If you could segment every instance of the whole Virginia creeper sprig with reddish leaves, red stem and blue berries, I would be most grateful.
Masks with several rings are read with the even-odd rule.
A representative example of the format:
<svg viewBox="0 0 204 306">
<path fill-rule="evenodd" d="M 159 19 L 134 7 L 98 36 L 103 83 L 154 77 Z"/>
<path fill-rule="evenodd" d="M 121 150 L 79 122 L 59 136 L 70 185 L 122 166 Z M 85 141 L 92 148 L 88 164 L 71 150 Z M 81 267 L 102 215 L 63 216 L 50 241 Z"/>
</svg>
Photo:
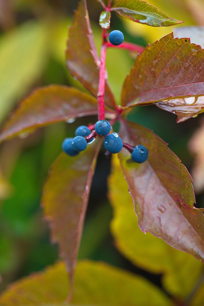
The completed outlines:
<svg viewBox="0 0 204 306">
<path fill-rule="evenodd" d="M 113 45 L 115 37 L 111 43 L 108 29 L 114 12 L 153 27 L 172 26 L 182 21 L 168 17 L 141 0 L 118 0 L 114 4 L 109 0 L 107 6 L 102 0 L 98 2 L 103 9 L 99 18 L 102 27 L 100 57 L 86 0 L 79 3 L 66 50 L 67 68 L 91 95 L 60 85 L 38 88 L 21 102 L 0 134 L 0 141 L 4 141 L 55 122 L 98 114 L 96 128 L 96 123 L 92 122 L 80 128 L 88 131 L 87 134 L 76 132 L 73 139 L 63 143 L 68 154 L 62 152 L 54 162 L 43 189 L 44 215 L 50 223 L 52 241 L 59 244 L 71 284 L 91 182 L 103 142 L 106 156 L 118 153 L 141 231 L 150 232 L 173 248 L 204 262 L 203 209 L 194 207 L 190 174 L 163 140 L 126 118 L 130 107 L 151 104 L 175 113 L 178 122 L 201 113 L 204 50 L 189 38 L 174 38 L 172 33 L 146 48 L 125 42 L 125 37 L 124 42 Z M 120 105 L 107 81 L 106 53 L 112 47 L 137 54 L 124 81 Z M 113 130 L 117 121 L 119 135 Z M 101 122 L 105 122 L 105 132 L 98 128 Z M 111 130 L 106 130 L 107 126 Z M 71 295 L 72 289 L 69 299 Z"/>
</svg>

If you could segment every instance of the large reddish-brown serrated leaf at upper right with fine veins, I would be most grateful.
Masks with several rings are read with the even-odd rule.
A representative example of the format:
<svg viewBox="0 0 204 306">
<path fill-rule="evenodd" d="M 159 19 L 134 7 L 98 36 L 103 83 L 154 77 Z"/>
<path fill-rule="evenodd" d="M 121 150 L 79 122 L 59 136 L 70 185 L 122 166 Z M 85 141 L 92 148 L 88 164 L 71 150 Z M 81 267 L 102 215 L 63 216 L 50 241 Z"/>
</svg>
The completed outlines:
<svg viewBox="0 0 204 306">
<path fill-rule="evenodd" d="M 122 105 L 204 95 L 203 67 L 200 46 L 166 35 L 137 56 L 124 82 Z"/>
</svg>

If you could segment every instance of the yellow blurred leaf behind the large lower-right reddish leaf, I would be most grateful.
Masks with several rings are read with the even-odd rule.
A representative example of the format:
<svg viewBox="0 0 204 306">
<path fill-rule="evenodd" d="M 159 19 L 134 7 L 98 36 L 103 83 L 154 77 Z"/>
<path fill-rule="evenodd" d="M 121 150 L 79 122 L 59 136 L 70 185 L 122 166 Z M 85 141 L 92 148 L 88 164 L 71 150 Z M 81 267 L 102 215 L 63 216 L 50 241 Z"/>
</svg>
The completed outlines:
<svg viewBox="0 0 204 306">
<path fill-rule="evenodd" d="M 139 229 L 117 156 L 113 156 L 108 183 L 114 215 L 111 232 L 118 250 L 139 268 L 162 274 L 163 286 L 174 297 L 186 297 L 200 277 L 203 264 Z"/>
</svg>

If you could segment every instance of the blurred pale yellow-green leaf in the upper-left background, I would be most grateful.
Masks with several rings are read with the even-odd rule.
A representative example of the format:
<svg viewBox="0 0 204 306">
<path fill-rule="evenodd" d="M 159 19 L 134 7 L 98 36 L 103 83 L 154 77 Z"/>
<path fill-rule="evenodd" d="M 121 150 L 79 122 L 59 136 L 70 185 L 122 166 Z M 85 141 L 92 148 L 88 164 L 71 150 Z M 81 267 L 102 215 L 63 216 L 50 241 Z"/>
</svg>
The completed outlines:
<svg viewBox="0 0 204 306">
<path fill-rule="evenodd" d="M 41 75 L 46 63 L 43 23 L 27 22 L 0 38 L 0 122 Z"/>
</svg>

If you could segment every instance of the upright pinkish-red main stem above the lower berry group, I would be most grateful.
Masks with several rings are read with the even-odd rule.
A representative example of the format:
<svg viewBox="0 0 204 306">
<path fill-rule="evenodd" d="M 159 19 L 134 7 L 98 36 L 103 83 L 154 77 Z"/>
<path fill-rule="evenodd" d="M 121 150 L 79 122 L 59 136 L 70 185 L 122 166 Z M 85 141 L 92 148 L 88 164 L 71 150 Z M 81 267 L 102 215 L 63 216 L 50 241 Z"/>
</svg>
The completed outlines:
<svg viewBox="0 0 204 306">
<path fill-rule="evenodd" d="M 101 47 L 101 64 L 98 84 L 98 120 L 105 119 L 104 95 L 106 84 L 106 30 L 103 30 L 103 45 Z"/>
</svg>

